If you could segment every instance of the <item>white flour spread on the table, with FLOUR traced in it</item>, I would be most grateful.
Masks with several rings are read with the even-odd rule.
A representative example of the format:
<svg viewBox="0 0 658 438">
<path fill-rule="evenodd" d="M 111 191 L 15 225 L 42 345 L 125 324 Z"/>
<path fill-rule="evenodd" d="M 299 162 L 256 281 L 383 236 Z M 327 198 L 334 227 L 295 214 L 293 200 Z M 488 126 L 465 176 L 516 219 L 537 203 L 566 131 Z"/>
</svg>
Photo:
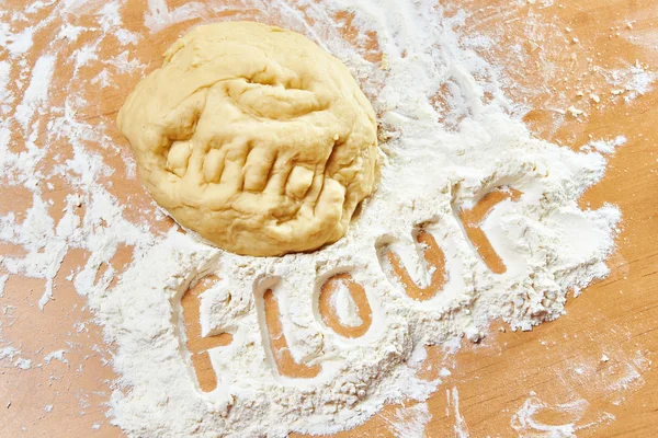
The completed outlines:
<svg viewBox="0 0 658 438">
<path fill-rule="evenodd" d="M 71 24 L 81 8 L 76 3 L 58 3 L 49 22 L 57 16 Z M 157 32 L 193 16 L 211 18 L 229 9 L 222 3 L 190 3 L 170 11 L 164 1 L 152 0 L 145 25 Z M 0 72 L 20 69 L 10 74 L 23 81 L 18 106 L 1 110 L 0 170 L 9 185 L 33 193 L 25 217 L 0 217 L 0 241 L 26 252 L 1 257 L 0 267 L 46 279 L 38 301 L 43 308 L 56 295 L 53 279 L 66 253 L 87 250 L 86 265 L 71 279 L 104 325 L 106 341 L 116 346 L 113 366 L 121 388 L 112 396 L 111 415 L 129 436 L 283 437 L 291 430 L 330 434 L 355 426 L 386 402 L 424 401 L 438 388 L 439 380 L 416 377 L 426 345 L 455 345 L 464 336 L 477 342 L 496 319 L 514 330 L 531 330 L 564 313 L 568 290 L 579 291 L 605 276 L 604 260 L 614 245 L 620 212 L 611 206 L 582 210 L 577 204 L 603 176 L 605 159 L 597 151 L 575 153 L 531 137 L 510 115 L 513 105 L 502 95 L 497 68 L 461 44 L 463 13 L 444 16 L 429 0 L 243 3 L 241 9 L 262 11 L 272 18 L 271 24 L 303 32 L 342 59 L 371 97 L 387 138 L 376 194 L 344 239 L 313 254 L 237 256 L 175 229 L 161 235 L 148 223 L 126 218 L 129 204 L 122 205 L 111 194 L 107 178 L 129 174 L 134 163 L 123 158 L 125 170 L 113 169 L 90 150 L 89 145 L 100 145 L 107 154 L 125 154 L 106 134 L 114 131 L 112 125 L 93 125 L 84 116 L 87 101 L 94 96 L 76 85 L 90 65 L 106 66 L 91 81 L 110 88 L 115 87 L 115 76 L 145 67 L 131 49 L 148 42 L 122 27 L 120 3 L 84 5 L 84 13 L 97 15 L 98 26 L 61 27 L 67 31 L 48 53 L 39 54 L 32 69 L 18 61 L 9 68 L 0 64 Z M 296 12 L 299 8 L 306 16 Z M 352 25 L 359 31 L 352 43 L 338 31 L 344 23 L 336 13 L 344 10 L 353 14 Z M 12 33 L 4 24 L 0 31 L 0 43 L 12 57 L 30 50 L 34 31 Z M 364 48 L 368 32 L 376 33 L 385 55 L 382 66 L 367 60 L 373 54 Z M 58 56 L 57 50 L 86 33 L 93 35 L 80 43 L 87 51 L 76 46 L 76 56 Z M 98 48 L 109 37 L 118 45 L 113 54 Z M 72 72 L 66 81 L 73 85 L 55 106 L 47 97 L 58 87 L 48 89 L 58 68 Z M 0 78 L 0 96 L 9 93 L 4 79 Z M 450 92 L 439 104 L 433 97 L 442 87 Z M 45 138 L 66 138 L 71 157 L 44 170 L 39 163 L 46 153 L 54 159 L 57 153 L 48 150 L 48 141 L 36 141 L 45 129 L 37 115 L 46 113 Z M 18 128 L 27 139 L 21 152 L 11 145 L 10 132 Z M 71 187 L 57 221 L 44 186 L 50 177 Z M 523 195 L 498 204 L 481 224 L 507 266 L 497 275 L 474 250 L 457 214 L 499 186 Z M 379 256 L 385 247 L 406 247 L 405 266 L 419 286 L 426 285 L 430 275 L 412 239 L 421 226 L 445 254 L 447 280 L 434 297 L 418 302 L 398 286 Z M 133 262 L 114 286 L 109 262 L 121 245 L 134 246 Z M 97 278 L 101 266 L 109 267 Z M 338 273 L 351 274 L 368 299 L 372 324 L 359 338 L 339 336 L 321 323 L 317 311 L 318 289 Z M 202 297 L 202 331 L 229 332 L 232 343 L 208 351 L 217 389 L 203 393 L 185 348 L 180 297 L 209 274 L 222 281 Z M 294 379 L 277 371 L 264 322 L 262 296 L 268 288 L 279 303 L 293 358 L 321 367 L 317 377 Z M 341 297 L 334 302 L 339 320 L 360 325 L 353 302 L 344 291 Z M 4 355 L 13 360 L 18 353 Z M 64 355 L 49 359 L 64 360 Z M 455 433 L 467 436 L 456 389 L 452 397 L 458 419 Z M 429 414 L 418 410 L 424 426 Z"/>
</svg>

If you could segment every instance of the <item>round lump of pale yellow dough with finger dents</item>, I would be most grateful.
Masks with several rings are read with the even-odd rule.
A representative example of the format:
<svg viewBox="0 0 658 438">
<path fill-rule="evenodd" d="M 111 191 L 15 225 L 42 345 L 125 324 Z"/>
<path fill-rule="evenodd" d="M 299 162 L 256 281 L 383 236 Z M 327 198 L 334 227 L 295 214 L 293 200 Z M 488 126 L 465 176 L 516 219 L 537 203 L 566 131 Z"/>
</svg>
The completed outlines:
<svg viewBox="0 0 658 438">
<path fill-rule="evenodd" d="M 194 28 L 137 84 L 117 124 L 154 199 L 238 254 L 334 242 L 375 186 L 370 102 L 341 61 L 279 27 Z"/>
</svg>

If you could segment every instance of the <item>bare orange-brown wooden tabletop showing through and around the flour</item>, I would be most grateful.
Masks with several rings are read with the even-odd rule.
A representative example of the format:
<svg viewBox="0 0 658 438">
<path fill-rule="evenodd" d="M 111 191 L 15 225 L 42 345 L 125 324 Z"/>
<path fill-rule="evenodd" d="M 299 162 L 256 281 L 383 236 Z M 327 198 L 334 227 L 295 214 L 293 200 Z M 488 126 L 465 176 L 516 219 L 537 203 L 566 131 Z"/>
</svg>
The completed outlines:
<svg viewBox="0 0 658 438">
<path fill-rule="evenodd" d="M 510 83 L 514 87 L 509 87 L 507 93 L 512 100 L 532 108 L 525 120 L 534 135 L 574 149 L 592 138 L 626 136 L 627 143 L 610 157 L 604 180 L 589 189 L 580 203 L 588 208 L 599 208 L 605 203 L 621 208 L 623 223 L 619 249 L 609 261 L 610 276 L 577 298 L 569 296 L 567 314 L 559 320 L 525 333 L 499 331 L 499 325 L 495 324 L 484 342 L 477 345 L 464 343 L 456 354 L 430 348 L 421 376 L 435 378 L 442 368 L 449 369 L 451 376 L 443 379 L 443 384 L 428 401 L 432 417 L 426 427 L 426 436 L 449 437 L 455 436 L 456 430 L 468 430 L 472 437 L 543 437 L 549 435 L 542 435 L 542 428 L 571 423 L 578 437 L 658 436 L 658 374 L 654 366 L 658 350 L 658 90 L 626 102 L 624 97 L 631 92 L 613 94 L 619 87 L 610 84 L 602 73 L 628 70 L 636 61 L 647 70 L 658 68 L 658 7 L 655 0 L 508 3 L 464 1 L 458 8 L 450 3 L 446 13 L 450 15 L 460 8 L 469 11 L 472 15 L 460 33 L 498 38 L 499 43 L 483 50 L 481 55 L 511 78 Z M 180 4 L 182 2 L 170 0 L 170 11 Z M 22 1 L 13 0 L 9 5 L 24 7 Z M 141 2 L 129 1 L 122 10 L 122 19 L 126 28 L 145 36 L 138 46 L 131 48 L 134 53 L 129 57 L 139 59 L 145 71 L 150 71 L 160 64 L 160 54 L 166 47 L 202 20 L 186 20 L 152 34 L 144 26 L 145 8 Z M 79 24 L 92 25 L 92 12 L 81 13 L 77 19 Z M 47 14 L 48 9 L 45 9 L 43 15 Z M 254 20 L 277 22 L 276 16 L 261 11 L 252 10 L 247 14 Z M 205 20 L 219 19 L 222 16 Z M 52 44 L 57 30 L 56 20 L 38 30 L 34 35 L 33 54 L 26 56 L 27 62 L 35 62 L 38 54 Z M 348 36 L 349 33 L 348 28 Z M 83 43 L 84 34 L 79 39 L 79 44 Z M 89 79 L 95 77 L 102 66 L 91 67 L 80 73 L 86 81 L 70 84 L 72 65 L 68 59 L 73 48 L 61 47 L 50 100 L 61 105 L 72 87 L 87 91 L 88 113 L 78 116 L 90 123 L 106 124 L 112 141 L 118 146 L 116 149 L 90 146 L 115 169 L 115 174 L 106 178 L 110 192 L 123 204 L 135 206 L 126 211 L 128 216 L 133 215 L 135 219 L 148 215 L 155 217 L 149 197 L 138 181 L 124 176 L 126 164 L 121 155 L 129 153 L 129 149 L 113 126 L 116 111 L 141 71 L 117 73 L 116 87 L 98 91 Z M 99 43 L 99 50 L 110 58 L 125 49 L 107 38 Z M 2 56 L 0 51 L 0 59 Z M 377 59 L 372 54 L 368 56 Z M 579 96 L 581 91 L 583 95 Z M 594 103 L 590 93 L 595 93 L 601 102 Z M 571 105 L 585 110 L 586 114 L 570 115 L 566 110 Z M 48 113 L 41 116 L 48 117 Z M 25 147 L 24 134 L 20 129 L 12 132 L 14 150 Z M 44 168 L 53 165 L 55 150 L 60 154 L 59 160 L 72 154 L 66 139 L 60 139 L 52 145 L 53 152 L 48 152 Z M 53 211 L 57 211 L 69 188 L 64 178 L 52 180 L 55 186 Z M 20 217 L 23 207 L 30 205 L 31 194 L 21 187 L 1 187 L 0 194 L 2 215 L 16 211 Z M 151 224 L 157 232 L 167 229 L 170 222 L 152 221 Z M 421 232 L 419 239 L 429 238 Z M 428 243 L 428 253 L 431 253 L 432 245 L 430 241 Z M 0 242 L 0 251 L 14 253 L 21 249 Z M 123 249 L 112 260 L 112 266 L 121 273 L 131 254 L 129 247 Z M 55 300 L 43 312 L 35 304 L 44 287 L 43 280 L 11 276 L 7 283 L 4 296 L 0 297 L 3 309 L 0 342 L 20 344 L 27 357 L 32 355 L 30 358 L 35 365 L 42 362 L 43 366 L 23 371 L 0 361 L 2 437 L 121 436 L 121 431 L 104 418 L 103 403 L 111 393 L 110 382 L 116 378 L 109 366 L 103 366 L 111 358 L 111 347 L 102 344 L 101 331 L 91 322 L 84 298 L 78 296 L 65 279 L 71 269 L 86 262 L 86 257 L 88 254 L 83 251 L 71 251 L 66 256 L 55 280 Z M 392 263 L 395 263 L 394 258 Z M 440 260 L 433 260 L 441 265 Z M 496 263 L 491 256 L 491 266 Z M 404 277 L 401 269 L 398 266 Z M 103 267 L 100 270 L 102 274 Z M 434 280 L 440 284 L 441 276 L 432 278 L 433 284 Z M 198 333 L 194 323 L 195 293 L 198 292 L 183 298 L 188 333 L 192 339 L 194 333 Z M 427 292 L 417 290 L 415 293 L 422 298 Z M 271 301 L 269 309 L 270 314 L 275 315 L 275 303 Z M 367 323 L 367 312 L 360 310 Z M 276 335 L 280 327 L 275 319 L 269 321 L 270 333 Z M 325 323 L 333 324 L 330 319 Z M 230 339 L 191 341 L 189 344 L 198 356 L 195 366 L 202 388 L 214 384 L 213 371 L 203 354 L 214 342 Z M 67 349 L 67 362 L 43 362 L 39 358 L 44 345 L 47 350 Z M 273 347 L 277 348 L 276 345 Z M 293 374 L 314 372 L 303 367 L 295 370 L 291 360 L 283 357 L 277 366 L 280 369 L 292 367 Z M 50 404 L 53 411 L 46 413 L 44 406 Z M 524 406 L 538 406 L 533 418 L 545 426 L 523 429 L 518 413 Z M 396 418 L 405 415 L 400 410 L 401 405 L 388 406 L 366 424 L 339 436 L 394 436 Z M 99 425 L 98 431 L 92 430 L 92 425 Z"/>
</svg>

